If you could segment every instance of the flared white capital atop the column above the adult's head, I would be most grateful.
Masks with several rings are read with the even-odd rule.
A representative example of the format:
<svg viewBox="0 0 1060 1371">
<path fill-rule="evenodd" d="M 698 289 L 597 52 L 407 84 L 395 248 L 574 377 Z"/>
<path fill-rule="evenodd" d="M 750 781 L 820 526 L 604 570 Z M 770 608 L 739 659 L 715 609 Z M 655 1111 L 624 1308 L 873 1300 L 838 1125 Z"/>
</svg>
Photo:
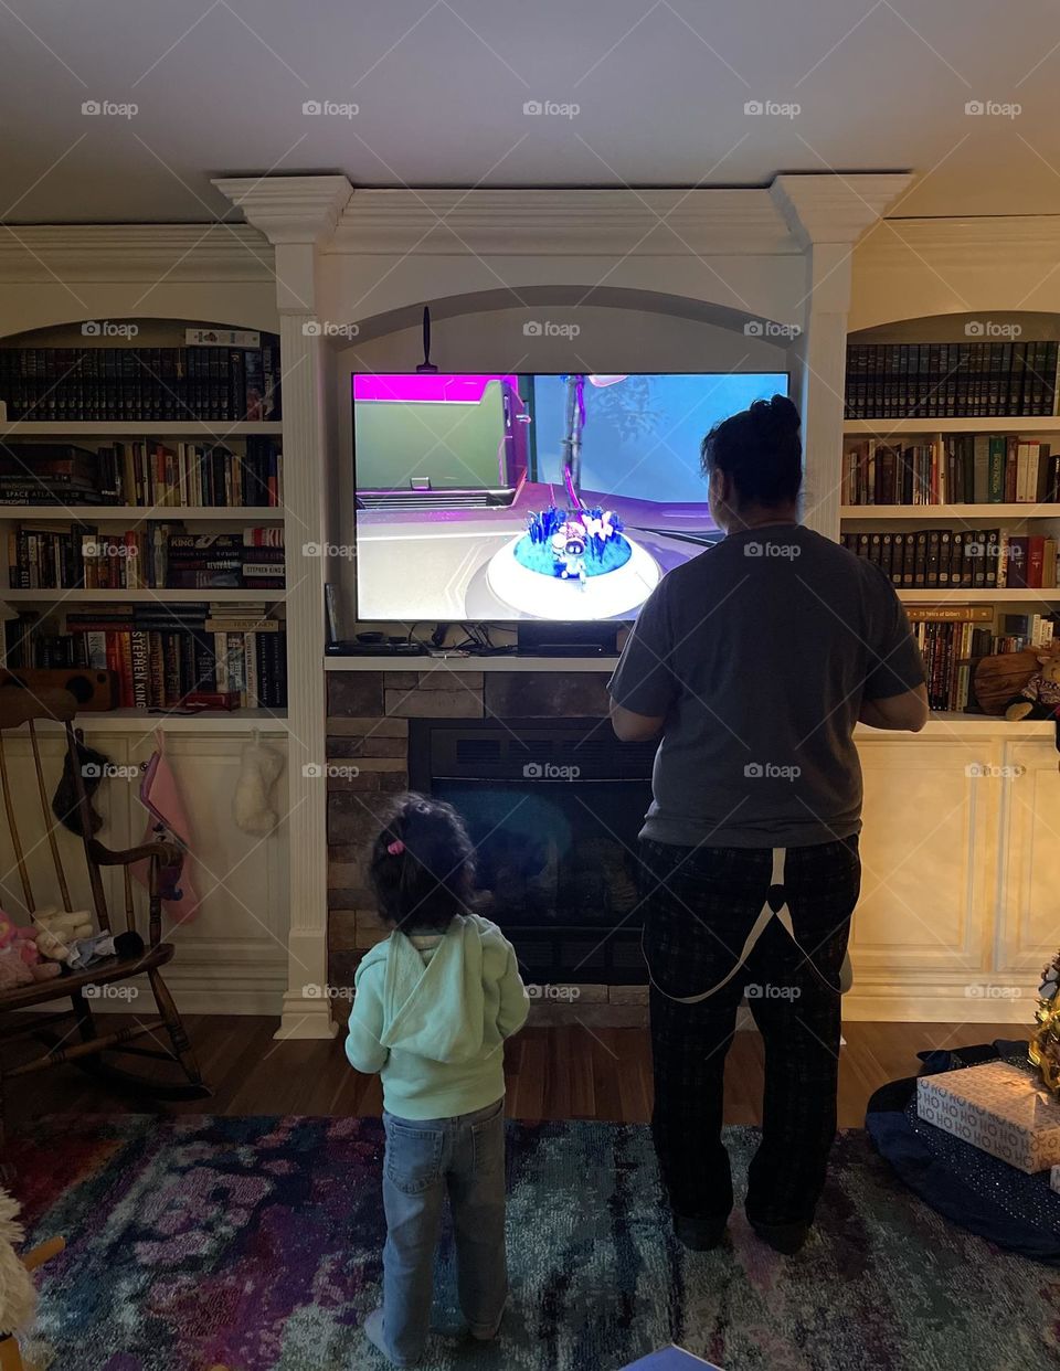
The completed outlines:
<svg viewBox="0 0 1060 1371">
<path fill-rule="evenodd" d="M 857 243 L 865 229 L 884 215 L 912 180 L 908 171 L 850 175 L 784 173 L 773 180 L 769 195 L 801 247 L 850 244 Z"/>
</svg>

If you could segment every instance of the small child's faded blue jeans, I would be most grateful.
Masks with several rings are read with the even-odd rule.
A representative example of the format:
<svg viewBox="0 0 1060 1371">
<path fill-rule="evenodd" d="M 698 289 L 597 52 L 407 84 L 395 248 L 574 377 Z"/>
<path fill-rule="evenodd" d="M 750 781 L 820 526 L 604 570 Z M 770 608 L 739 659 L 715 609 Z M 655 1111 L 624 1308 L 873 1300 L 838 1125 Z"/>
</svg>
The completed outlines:
<svg viewBox="0 0 1060 1371">
<path fill-rule="evenodd" d="M 505 1257 L 505 1101 L 455 1119 L 384 1113 L 383 1328 L 398 1366 L 422 1355 L 431 1327 L 435 1249 L 448 1191 L 461 1309 L 470 1331 L 492 1337 L 507 1300 Z"/>
</svg>

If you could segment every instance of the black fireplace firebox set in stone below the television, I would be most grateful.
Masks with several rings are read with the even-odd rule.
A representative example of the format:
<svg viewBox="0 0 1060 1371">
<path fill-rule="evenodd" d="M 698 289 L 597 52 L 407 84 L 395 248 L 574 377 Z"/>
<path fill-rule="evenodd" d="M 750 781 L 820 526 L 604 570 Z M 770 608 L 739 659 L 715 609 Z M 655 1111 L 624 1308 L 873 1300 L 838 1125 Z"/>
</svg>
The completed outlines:
<svg viewBox="0 0 1060 1371">
<path fill-rule="evenodd" d="M 476 846 L 481 913 L 539 984 L 643 984 L 636 835 L 654 743 L 606 720 L 414 718 L 409 783 Z"/>
</svg>

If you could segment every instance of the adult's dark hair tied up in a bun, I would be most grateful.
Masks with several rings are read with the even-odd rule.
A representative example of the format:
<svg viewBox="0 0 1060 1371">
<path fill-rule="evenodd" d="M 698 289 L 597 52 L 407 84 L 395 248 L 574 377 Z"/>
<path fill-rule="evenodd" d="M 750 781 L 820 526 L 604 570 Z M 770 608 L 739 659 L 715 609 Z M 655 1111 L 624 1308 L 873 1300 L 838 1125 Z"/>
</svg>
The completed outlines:
<svg viewBox="0 0 1060 1371">
<path fill-rule="evenodd" d="M 740 505 L 794 505 L 802 485 L 798 410 L 786 395 L 714 424 L 699 446 L 703 474 L 732 477 Z"/>
</svg>

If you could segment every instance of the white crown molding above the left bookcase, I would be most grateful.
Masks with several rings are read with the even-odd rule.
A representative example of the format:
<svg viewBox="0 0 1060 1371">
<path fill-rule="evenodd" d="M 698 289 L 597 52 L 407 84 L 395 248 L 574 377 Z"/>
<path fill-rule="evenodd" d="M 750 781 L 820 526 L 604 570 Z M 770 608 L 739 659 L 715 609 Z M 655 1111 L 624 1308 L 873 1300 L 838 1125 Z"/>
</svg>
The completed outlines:
<svg viewBox="0 0 1060 1371">
<path fill-rule="evenodd" d="M 273 250 L 244 223 L 0 225 L 0 281 L 269 281 Z"/>
</svg>

